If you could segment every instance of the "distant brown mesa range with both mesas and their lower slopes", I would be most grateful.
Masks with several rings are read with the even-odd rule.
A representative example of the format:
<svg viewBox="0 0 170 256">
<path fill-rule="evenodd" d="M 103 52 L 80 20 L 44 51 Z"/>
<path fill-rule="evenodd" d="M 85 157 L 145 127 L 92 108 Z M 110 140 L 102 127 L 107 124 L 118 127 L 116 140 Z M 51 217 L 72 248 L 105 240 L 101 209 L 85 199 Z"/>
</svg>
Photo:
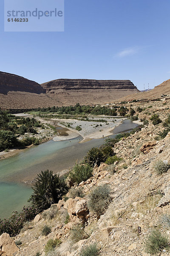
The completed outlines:
<svg viewBox="0 0 170 256">
<path fill-rule="evenodd" d="M 130 80 L 58 79 L 40 85 L 0 72 L 0 108 L 4 109 L 105 104 L 130 93 L 139 93 Z"/>
</svg>

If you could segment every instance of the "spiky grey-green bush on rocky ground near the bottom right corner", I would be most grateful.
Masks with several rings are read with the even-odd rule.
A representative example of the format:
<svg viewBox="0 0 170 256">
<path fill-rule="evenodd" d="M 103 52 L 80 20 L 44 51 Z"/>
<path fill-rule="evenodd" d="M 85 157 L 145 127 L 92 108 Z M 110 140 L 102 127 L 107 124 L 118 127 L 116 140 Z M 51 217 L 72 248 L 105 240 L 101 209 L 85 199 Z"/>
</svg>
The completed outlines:
<svg viewBox="0 0 170 256">
<path fill-rule="evenodd" d="M 169 249 L 169 241 L 167 236 L 161 234 L 159 230 L 152 230 L 144 242 L 144 248 L 151 255 L 161 253 L 163 249 Z"/>
</svg>

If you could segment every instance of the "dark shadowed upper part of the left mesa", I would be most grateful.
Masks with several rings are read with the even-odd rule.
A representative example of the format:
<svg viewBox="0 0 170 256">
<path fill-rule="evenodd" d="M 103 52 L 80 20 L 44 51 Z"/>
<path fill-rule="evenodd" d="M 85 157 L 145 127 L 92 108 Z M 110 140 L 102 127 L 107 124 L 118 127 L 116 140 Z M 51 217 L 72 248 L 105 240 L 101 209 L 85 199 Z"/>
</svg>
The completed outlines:
<svg viewBox="0 0 170 256">
<path fill-rule="evenodd" d="M 0 71 L 0 93 L 7 94 L 8 91 L 45 93 L 45 89 L 35 81 Z"/>
</svg>

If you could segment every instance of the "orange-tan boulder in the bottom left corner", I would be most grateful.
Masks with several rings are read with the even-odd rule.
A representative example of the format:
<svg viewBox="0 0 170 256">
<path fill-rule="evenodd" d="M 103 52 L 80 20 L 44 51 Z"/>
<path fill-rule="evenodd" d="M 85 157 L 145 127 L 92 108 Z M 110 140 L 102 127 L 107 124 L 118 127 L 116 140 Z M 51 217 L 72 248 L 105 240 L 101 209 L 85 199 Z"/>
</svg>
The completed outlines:
<svg viewBox="0 0 170 256">
<path fill-rule="evenodd" d="M 13 256 L 19 248 L 16 246 L 14 240 L 7 233 L 3 233 L 0 236 L 0 255 Z"/>
</svg>

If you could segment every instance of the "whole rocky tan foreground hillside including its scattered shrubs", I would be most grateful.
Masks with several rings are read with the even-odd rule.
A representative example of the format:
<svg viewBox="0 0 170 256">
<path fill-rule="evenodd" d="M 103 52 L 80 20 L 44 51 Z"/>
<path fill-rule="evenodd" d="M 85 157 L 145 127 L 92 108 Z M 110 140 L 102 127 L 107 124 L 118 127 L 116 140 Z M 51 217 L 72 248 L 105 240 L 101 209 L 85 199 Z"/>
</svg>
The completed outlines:
<svg viewBox="0 0 170 256">
<path fill-rule="evenodd" d="M 95 165 L 79 185 L 72 186 L 68 177 L 72 187 L 58 204 L 26 222 L 17 236 L 0 236 L 0 254 L 170 255 L 170 131 L 164 134 L 170 100 L 165 103 L 144 102 L 139 109 L 133 102 L 144 126 L 113 143 L 114 164 Z M 156 125 L 150 120 L 154 113 L 161 119 Z"/>
</svg>

